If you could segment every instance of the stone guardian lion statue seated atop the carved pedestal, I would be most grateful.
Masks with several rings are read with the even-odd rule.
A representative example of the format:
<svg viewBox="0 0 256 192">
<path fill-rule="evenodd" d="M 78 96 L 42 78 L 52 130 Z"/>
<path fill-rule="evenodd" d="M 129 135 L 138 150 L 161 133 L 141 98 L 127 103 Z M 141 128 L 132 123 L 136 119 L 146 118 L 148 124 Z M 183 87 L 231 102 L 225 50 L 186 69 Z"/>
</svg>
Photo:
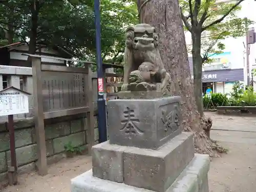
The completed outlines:
<svg viewBox="0 0 256 192">
<path fill-rule="evenodd" d="M 170 75 L 165 70 L 154 27 L 138 24 L 126 30 L 123 91 L 170 91 Z M 160 84 L 160 87 L 157 86 Z"/>
</svg>

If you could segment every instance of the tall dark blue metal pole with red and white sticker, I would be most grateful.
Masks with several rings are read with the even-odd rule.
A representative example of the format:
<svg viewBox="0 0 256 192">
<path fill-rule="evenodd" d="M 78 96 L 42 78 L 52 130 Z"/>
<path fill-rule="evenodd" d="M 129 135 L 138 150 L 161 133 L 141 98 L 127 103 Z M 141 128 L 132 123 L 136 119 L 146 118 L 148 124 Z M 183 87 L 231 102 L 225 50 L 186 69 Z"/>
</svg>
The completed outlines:
<svg viewBox="0 0 256 192">
<path fill-rule="evenodd" d="M 101 41 L 100 41 L 100 9 L 99 0 L 94 0 L 95 28 L 96 28 L 96 56 L 97 56 L 97 75 L 98 75 L 98 127 L 99 143 L 107 140 L 106 136 L 106 108 L 104 99 L 104 73 L 101 58 Z"/>
</svg>

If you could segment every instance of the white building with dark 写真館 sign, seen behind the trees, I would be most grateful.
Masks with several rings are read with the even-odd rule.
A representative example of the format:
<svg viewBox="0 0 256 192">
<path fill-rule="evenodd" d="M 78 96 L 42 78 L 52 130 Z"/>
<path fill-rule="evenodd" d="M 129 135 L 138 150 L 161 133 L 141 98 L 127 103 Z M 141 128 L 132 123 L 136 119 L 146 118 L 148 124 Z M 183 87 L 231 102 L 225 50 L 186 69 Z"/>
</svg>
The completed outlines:
<svg viewBox="0 0 256 192">
<path fill-rule="evenodd" d="M 223 2 L 223 0 L 222 0 Z M 230 2 L 230 1 L 225 1 Z M 237 12 L 237 16 L 240 18 L 247 17 L 250 20 L 256 22 L 256 1 L 254 0 L 245 0 L 240 4 L 242 6 L 241 10 Z M 249 28 L 256 25 L 251 25 Z M 209 32 L 204 31 L 202 33 L 202 38 L 209 35 Z M 190 32 L 185 32 L 186 44 L 188 47 L 191 47 L 192 39 Z M 203 91 L 207 87 L 211 87 L 212 91 L 215 93 L 230 93 L 232 84 L 234 81 L 243 81 L 247 83 L 247 69 L 246 69 L 246 54 L 245 54 L 245 45 L 246 37 L 228 37 L 222 40 L 222 43 L 225 44 L 225 49 L 223 54 L 215 54 L 215 62 L 210 65 L 203 66 Z M 189 49 L 188 49 L 189 50 Z M 191 53 L 188 53 L 188 56 L 191 57 Z M 190 60 L 190 71 L 193 73 L 193 64 Z M 250 55 L 249 55 L 249 74 L 251 75 L 251 70 L 253 65 L 256 68 L 256 44 L 250 45 Z M 241 74 L 243 73 L 243 74 Z M 226 76 L 228 75 L 228 76 Z M 207 77 L 216 77 L 215 79 Z M 243 76 L 243 77 L 242 77 Z M 254 77 L 256 80 L 256 77 Z"/>
</svg>

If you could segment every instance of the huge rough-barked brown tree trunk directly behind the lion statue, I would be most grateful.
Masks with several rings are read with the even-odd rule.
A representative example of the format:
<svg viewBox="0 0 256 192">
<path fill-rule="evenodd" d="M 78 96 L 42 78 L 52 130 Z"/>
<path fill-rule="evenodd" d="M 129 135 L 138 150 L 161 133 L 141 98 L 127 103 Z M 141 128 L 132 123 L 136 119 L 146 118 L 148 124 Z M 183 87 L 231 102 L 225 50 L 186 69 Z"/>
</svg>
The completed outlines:
<svg viewBox="0 0 256 192">
<path fill-rule="evenodd" d="M 182 97 L 183 130 L 195 133 L 197 153 L 215 155 L 196 108 L 178 1 L 138 0 L 137 6 L 140 22 L 154 26 L 159 34 L 159 51 L 172 78 L 172 93 Z"/>
</svg>

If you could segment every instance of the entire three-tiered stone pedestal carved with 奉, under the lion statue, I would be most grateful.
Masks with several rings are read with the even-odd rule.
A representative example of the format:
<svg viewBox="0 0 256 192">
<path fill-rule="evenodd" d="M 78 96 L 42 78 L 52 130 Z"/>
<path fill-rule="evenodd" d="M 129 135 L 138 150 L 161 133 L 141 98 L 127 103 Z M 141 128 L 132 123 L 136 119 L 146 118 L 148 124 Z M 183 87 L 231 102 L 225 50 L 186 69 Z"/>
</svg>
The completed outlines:
<svg viewBox="0 0 256 192">
<path fill-rule="evenodd" d="M 72 192 L 208 192 L 209 157 L 181 132 L 180 97 L 108 102 L 110 140 L 93 146 L 93 168 Z"/>
</svg>

